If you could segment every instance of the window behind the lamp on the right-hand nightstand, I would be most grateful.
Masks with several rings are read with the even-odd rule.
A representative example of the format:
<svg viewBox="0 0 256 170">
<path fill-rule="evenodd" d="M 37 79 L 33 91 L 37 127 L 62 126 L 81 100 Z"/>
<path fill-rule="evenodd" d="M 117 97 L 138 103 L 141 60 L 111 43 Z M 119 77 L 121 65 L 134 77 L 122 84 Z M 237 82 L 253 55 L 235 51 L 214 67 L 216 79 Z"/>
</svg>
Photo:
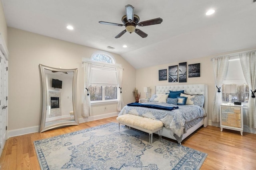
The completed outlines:
<svg viewBox="0 0 256 170">
<path fill-rule="evenodd" d="M 236 84 L 236 93 L 232 95 L 231 102 L 248 103 L 249 87 L 246 84 L 240 59 L 238 56 L 230 57 L 226 79 L 222 84 L 222 101 L 229 102 L 229 93 L 226 93 L 226 84 Z"/>
</svg>

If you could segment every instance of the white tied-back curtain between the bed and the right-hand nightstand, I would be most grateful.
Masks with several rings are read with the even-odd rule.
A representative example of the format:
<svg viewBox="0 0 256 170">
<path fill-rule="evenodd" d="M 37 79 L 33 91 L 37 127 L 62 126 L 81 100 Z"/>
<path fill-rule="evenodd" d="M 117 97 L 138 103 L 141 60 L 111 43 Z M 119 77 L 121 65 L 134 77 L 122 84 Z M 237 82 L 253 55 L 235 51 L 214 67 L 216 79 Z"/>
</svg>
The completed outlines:
<svg viewBox="0 0 256 170">
<path fill-rule="evenodd" d="M 228 60 L 229 56 L 215 57 L 212 58 L 215 85 L 221 88 L 222 82 L 226 77 L 228 71 Z M 212 121 L 220 122 L 220 103 L 222 102 L 222 92 L 218 92 L 217 87 L 214 91 L 214 100 L 212 103 Z M 222 89 L 220 89 L 221 91 Z"/>
</svg>

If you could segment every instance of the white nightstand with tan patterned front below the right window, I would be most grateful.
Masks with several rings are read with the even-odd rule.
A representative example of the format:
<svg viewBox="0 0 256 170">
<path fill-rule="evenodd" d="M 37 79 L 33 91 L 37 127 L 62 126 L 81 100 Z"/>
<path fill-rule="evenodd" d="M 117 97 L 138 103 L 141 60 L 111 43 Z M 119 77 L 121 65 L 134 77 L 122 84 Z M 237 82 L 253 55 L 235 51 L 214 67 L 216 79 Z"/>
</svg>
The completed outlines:
<svg viewBox="0 0 256 170">
<path fill-rule="evenodd" d="M 243 135 L 243 106 L 242 105 L 220 105 L 220 131 L 230 129 L 240 131 Z"/>
</svg>

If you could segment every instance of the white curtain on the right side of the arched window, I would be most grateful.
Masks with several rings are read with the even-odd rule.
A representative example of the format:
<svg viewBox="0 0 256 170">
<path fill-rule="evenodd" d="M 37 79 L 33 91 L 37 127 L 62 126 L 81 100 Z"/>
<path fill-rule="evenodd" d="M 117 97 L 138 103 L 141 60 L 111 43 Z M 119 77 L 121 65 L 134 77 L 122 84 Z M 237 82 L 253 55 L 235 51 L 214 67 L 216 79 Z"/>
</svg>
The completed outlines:
<svg viewBox="0 0 256 170">
<path fill-rule="evenodd" d="M 116 68 L 116 79 L 118 83 L 118 93 L 117 93 L 117 98 L 118 98 L 118 103 L 117 103 L 117 110 L 121 111 L 123 104 L 123 95 L 122 95 L 122 80 L 123 80 L 123 68 L 117 67 Z"/>
</svg>

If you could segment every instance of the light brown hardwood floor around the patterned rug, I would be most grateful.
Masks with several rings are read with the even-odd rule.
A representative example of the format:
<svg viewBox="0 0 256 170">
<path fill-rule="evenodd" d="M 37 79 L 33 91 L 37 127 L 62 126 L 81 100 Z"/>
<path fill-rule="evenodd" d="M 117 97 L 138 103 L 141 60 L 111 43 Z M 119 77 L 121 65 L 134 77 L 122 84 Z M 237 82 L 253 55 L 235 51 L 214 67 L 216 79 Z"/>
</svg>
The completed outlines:
<svg viewBox="0 0 256 170">
<path fill-rule="evenodd" d="M 33 141 L 110 122 L 117 122 L 116 117 L 43 133 L 11 137 L 6 141 L 0 158 L 1 170 L 39 170 Z M 256 134 L 244 132 L 241 136 L 238 131 L 224 129 L 220 132 L 219 127 L 201 127 L 182 141 L 182 145 L 208 154 L 201 167 L 202 170 L 256 170 Z"/>
</svg>

